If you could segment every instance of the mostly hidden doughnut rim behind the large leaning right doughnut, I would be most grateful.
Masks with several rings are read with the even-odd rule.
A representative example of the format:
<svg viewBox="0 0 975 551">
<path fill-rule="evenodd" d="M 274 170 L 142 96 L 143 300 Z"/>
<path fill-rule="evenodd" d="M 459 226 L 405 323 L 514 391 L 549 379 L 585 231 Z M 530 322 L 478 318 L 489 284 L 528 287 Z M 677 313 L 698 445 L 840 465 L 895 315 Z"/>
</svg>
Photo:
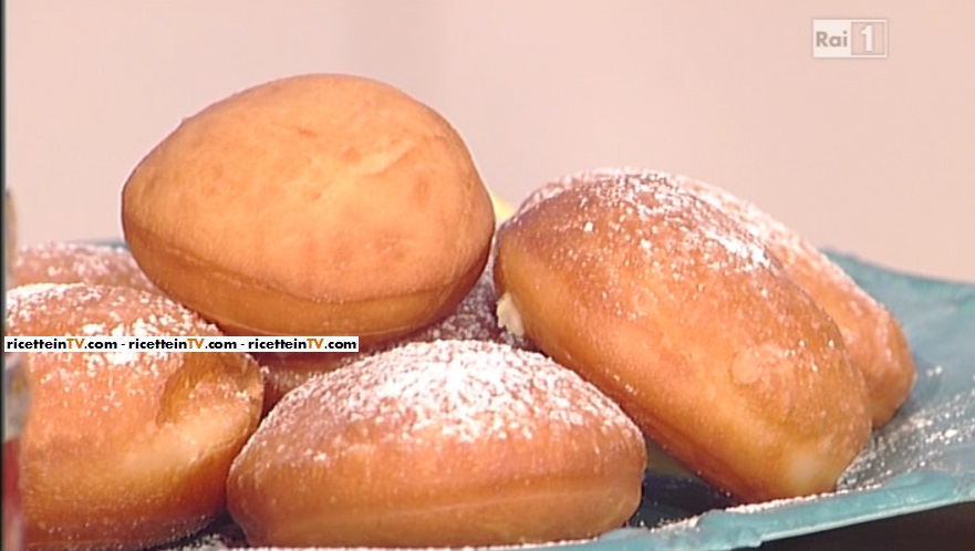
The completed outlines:
<svg viewBox="0 0 975 551">
<path fill-rule="evenodd" d="M 613 179 L 640 171 L 633 168 L 603 168 L 568 176 L 535 191 L 521 209 L 530 208 L 580 181 Z M 789 277 L 830 314 L 843 334 L 851 362 L 863 373 L 873 426 L 890 420 L 907 399 L 916 378 L 914 360 L 898 320 L 812 243 L 755 205 L 692 178 L 668 178 L 755 236 L 781 261 Z"/>
</svg>

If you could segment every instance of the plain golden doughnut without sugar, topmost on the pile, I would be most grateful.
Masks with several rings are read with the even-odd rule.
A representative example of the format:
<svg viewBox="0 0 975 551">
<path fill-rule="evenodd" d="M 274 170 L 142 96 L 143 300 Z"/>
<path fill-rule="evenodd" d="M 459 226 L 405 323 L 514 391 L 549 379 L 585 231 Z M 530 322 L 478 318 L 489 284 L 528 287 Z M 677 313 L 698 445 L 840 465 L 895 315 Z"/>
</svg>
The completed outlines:
<svg viewBox="0 0 975 551">
<path fill-rule="evenodd" d="M 149 279 L 225 331 L 361 344 L 446 315 L 495 228 L 447 121 L 335 74 L 258 85 L 185 119 L 129 176 L 122 223 Z"/>
</svg>

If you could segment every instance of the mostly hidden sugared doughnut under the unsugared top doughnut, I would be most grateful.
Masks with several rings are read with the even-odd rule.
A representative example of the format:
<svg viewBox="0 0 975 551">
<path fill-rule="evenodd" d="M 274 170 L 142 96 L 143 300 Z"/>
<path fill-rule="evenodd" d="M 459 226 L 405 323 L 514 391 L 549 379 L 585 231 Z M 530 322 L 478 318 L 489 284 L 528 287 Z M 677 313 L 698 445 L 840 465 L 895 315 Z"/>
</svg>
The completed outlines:
<svg viewBox="0 0 975 551">
<path fill-rule="evenodd" d="M 356 353 L 256 353 L 255 358 L 266 367 L 265 408 L 269 409 L 284 394 L 313 376 L 335 371 L 363 356 L 385 352 L 411 342 L 487 341 L 508 344 L 516 349 L 536 350 L 535 345 L 523 336 L 516 336 L 500 326 L 495 313 L 497 301 L 491 274 L 485 272 L 450 315 L 418 333 L 376 344 Z"/>
</svg>

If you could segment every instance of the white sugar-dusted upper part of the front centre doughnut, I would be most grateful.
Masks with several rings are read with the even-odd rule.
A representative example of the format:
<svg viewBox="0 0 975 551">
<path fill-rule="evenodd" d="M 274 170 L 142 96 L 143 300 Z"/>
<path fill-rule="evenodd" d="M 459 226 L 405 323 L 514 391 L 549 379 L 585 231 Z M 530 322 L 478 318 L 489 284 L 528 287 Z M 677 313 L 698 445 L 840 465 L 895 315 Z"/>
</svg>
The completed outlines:
<svg viewBox="0 0 975 551">
<path fill-rule="evenodd" d="M 558 434 L 593 426 L 639 437 L 619 406 L 572 371 L 541 354 L 483 341 L 411 343 L 365 357 L 292 391 L 265 425 L 281 434 L 315 435 L 297 441 L 322 443 L 350 429 L 375 430 L 385 444 L 432 446 L 531 439 L 537 429 Z"/>
</svg>

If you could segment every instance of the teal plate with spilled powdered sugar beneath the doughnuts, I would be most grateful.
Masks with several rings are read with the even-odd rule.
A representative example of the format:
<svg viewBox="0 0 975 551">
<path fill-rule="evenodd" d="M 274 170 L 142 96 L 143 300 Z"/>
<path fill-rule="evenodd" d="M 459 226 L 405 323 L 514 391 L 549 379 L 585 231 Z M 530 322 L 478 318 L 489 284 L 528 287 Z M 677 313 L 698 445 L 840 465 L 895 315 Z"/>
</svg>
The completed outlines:
<svg viewBox="0 0 975 551">
<path fill-rule="evenodd" d="M 919 370 L 907 403 L 874 433 L 838 490 L 734 507 L 699 480 L 673 469 L 651 470 L 644 500 L 626 528 L 559 544 L 560 550 L 732 550 L 975 501 L 975 284 L 830 256 L 900 319 Z M 225 520 L 177 548 L 243 545 L 239 530 Z"/>
</svg>

